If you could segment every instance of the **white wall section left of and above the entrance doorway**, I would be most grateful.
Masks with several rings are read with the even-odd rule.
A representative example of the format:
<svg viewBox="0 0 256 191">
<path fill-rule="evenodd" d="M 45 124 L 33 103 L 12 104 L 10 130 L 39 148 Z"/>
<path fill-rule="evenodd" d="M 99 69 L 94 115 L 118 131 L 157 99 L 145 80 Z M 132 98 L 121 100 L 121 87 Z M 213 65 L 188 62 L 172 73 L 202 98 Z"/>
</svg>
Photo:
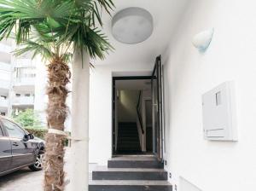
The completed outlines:
<svg viewBox="0 0 256 191">
<path fill-rule="evenodd" d="M 154 61 L 138 65 L 97 65 L 90 72 L 90 163 L 107 165 L 112 156 L 112 77 L 150 75 L 153 66 Z"/>
</svg>

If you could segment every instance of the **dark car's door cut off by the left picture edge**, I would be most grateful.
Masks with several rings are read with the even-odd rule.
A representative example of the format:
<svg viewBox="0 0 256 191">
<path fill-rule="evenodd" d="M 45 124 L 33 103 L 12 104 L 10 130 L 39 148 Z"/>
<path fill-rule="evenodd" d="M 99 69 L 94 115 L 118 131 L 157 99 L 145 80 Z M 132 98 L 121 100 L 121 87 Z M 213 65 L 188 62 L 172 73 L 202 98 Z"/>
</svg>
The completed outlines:
<svg viewBox="0 0 256 191">
<path fill-rule="evenodd" d="M 8 171 L 12 160 L 12 149 L 9 137 L 5 135 L 0 123 L 0 175 Z"/>
</svg>

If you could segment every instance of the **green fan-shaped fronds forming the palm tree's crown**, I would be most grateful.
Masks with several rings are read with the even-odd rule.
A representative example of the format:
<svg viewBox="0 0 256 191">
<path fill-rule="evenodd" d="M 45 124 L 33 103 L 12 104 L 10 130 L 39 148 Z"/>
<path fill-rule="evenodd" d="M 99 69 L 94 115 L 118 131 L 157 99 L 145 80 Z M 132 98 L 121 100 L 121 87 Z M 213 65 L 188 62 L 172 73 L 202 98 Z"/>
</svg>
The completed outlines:
<svg viewBox="0 0 256 191">
<path fill-rule="evenodd" d="M 102 11 L 110 14 L 113 8 L 112 0 L 0 0 L 0 40 L 14 32 L 16 43 L 25 47 L 16 54 L 37 55 L 42 49 L 44 56 L 50 55 L 45 49 L 49 43 L 55 54 L 66 55 L 72 44 L 104 59 L 113 47 L 96 21 L 102 26 Z"/>
</svg>

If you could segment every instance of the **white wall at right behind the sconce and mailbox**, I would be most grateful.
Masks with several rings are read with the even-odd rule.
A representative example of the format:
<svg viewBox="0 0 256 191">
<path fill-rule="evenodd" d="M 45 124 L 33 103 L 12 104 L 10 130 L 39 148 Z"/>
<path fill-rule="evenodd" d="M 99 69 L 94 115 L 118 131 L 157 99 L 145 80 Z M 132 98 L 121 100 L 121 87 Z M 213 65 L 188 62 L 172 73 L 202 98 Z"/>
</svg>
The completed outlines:
<svg viewBox="0 0 256 191">
<path fill-rule="evenodd" d="M 204 191 L 256 190 L 256 2 L 189 1 L 164 54 L 166 170 Z M 207 52 L 191 43 L 215 28 Z M 238 142 L 203 139 L 201 95 L 236 83 Z M 189 190 L 188 190 L 189 191 Z"/>
</svg>

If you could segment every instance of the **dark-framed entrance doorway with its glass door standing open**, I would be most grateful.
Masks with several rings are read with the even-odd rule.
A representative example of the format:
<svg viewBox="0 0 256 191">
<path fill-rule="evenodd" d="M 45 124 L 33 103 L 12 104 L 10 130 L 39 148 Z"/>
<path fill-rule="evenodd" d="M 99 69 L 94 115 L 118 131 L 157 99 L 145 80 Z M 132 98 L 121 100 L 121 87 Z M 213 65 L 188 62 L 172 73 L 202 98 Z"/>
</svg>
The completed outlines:
<svg viewBox="0 0 256 191">
<path fill-rule="evenodd" d="M 160 56 L 151 76 L 113 77 L 113 155 L 162 159 L 161 84 Z"/>
</svg>

